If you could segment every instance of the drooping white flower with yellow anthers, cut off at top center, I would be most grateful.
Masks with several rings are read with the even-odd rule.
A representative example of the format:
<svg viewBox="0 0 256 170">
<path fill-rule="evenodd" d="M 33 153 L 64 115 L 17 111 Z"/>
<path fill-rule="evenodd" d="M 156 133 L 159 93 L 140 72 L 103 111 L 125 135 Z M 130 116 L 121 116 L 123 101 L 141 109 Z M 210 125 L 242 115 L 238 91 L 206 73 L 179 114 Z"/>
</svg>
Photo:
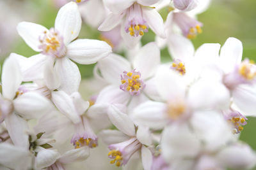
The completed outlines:
<svg viewBox="0 0 256 170">
<path fill-rule="evenodd" d="M 104 22 L 99 26 L 99 31 L 109 31 L 116 25 L 122 24 L 121 34 L 129 47 L 134 47 L 144 32 L 150 27 L 157 35 L 165 37 L 163 18 L 150 5 L 159 0 L 106 0 L 104 4 L 111 11 Z M 126 17 L 126 18 L 125 18 Z M 123 18 L 125 18 L 124 21 Z"/>
</svg>

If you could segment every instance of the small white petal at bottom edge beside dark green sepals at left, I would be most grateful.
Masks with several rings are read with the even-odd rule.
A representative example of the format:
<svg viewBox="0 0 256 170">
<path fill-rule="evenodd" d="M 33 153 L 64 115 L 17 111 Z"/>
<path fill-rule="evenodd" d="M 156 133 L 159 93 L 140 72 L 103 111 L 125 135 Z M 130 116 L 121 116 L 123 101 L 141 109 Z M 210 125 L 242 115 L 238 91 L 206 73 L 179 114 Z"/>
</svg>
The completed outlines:
<svg viewBox="0 0 256 170">
<path fill-rule="evenodd" d="M 49 167 L 60 157 L 60 153 L 57 150 L 42 149 L 36 155 L 36 167 L 44 168 Z"/>
</svg>

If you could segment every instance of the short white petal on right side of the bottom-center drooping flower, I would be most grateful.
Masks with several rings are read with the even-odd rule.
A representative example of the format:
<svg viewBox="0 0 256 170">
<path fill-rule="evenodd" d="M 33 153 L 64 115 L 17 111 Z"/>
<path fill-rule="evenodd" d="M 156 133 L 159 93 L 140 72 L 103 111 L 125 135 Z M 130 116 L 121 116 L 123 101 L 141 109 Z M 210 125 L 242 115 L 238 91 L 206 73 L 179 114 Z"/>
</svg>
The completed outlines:
<svg viewBox="0 0 256 170">
<path fill-rule="evenodd" d="M 148 127 L 143 125 L 138 125 L 138 130 L 136 132 L 136 138 L 142 143 L 143 145 L 152 145 L 152 136 L 151 132 Z"/>
</svg>

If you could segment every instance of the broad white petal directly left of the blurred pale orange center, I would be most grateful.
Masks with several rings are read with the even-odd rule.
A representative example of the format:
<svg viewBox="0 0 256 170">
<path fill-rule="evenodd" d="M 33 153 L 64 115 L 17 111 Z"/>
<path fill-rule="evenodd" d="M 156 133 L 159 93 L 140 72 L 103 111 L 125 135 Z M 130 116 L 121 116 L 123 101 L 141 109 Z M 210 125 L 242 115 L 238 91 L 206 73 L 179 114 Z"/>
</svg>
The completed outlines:
<svg viewBox="0 0 256 170">
<path fill-rule="evenodd" d="M 164 103 L 148 101 L 136 107 L 132 111 L 131 118 L 138 125 L 162 129 L 168 122 L 165 110 L 166 105 Z"/>
</svg>

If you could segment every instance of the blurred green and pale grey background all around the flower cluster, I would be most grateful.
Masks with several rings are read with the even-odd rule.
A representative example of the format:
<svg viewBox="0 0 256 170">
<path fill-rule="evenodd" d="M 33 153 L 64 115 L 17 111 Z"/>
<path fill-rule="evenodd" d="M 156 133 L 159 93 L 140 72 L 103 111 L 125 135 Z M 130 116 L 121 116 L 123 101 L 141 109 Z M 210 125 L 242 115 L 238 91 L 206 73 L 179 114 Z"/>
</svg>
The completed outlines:
<svg viewBox="0 0 256 170">
<path fill-rule="evenodd" d="M 53 0 L 0 0 L 1 63 L 10 55 L 10 52 L 26 57 L 35 55 L 36 52 L 24 43 L 15 27 L 17 23 L 24 20 L 51 28 L 58 8 Z M 198 20 L 204 23 L 204 27 L 203 33 L 193 39 L 195 48 L 203 43 L 223 45 L 225 40 L 232 36 L 243 42 L 243 57 L 256 61 L 255 0 L 212 0 L 210 8 L 198 15 Z M 96 29 L 83 24 L 79 38 L 99 39 L 99 37 L 100 34 Z M 154 41 L 154 34 L 148 32 L 143 36 L 142 41 L 143 44 Z M 166 49 L 162 50 L 161 55 L 163 59 L 170 58 Z M 81 65 L 79 69 L 83 78 L 92 76 L 93 65 Z M 248 118 L 248 124 L 241 132 L 241 140 L 256 150 L 256 118 Z"/>
</svg>

